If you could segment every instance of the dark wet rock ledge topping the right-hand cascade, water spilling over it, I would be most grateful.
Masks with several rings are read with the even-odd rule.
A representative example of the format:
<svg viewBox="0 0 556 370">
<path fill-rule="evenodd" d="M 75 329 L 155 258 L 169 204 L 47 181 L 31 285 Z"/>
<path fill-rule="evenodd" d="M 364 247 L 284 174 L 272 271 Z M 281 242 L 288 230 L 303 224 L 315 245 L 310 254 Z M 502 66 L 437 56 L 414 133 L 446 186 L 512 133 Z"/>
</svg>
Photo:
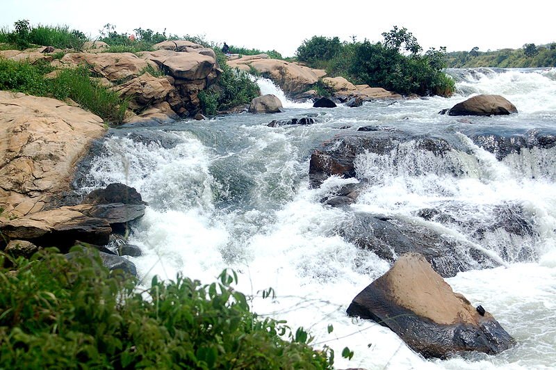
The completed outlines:
<svg viewBox="0 0 556 370">
<path fill-rule="evenodd" d="M 387 154 L 401 143 L 414 140 L 416 149 L 443 156 L 451 146 L 443 138 L 414 136 L 402 131 L 346 131 L 327 141 L 311 154 L 309 162 L 309 183 L 318 187 L 332 175 L 345 178 L 357 177 L 354 160 L 357 154 L 371 152 Z"/>
</svg>

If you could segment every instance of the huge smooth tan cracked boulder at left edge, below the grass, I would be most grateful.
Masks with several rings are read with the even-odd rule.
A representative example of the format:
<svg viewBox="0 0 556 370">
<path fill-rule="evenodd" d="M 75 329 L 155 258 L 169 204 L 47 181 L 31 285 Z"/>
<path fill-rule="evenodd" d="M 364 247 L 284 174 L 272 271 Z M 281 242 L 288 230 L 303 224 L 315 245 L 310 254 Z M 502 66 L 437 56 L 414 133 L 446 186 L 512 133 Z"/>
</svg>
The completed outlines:
<svg viewBox="0 0 556 370">
<path fill-rule="evenodd" d="M 106 129 L 97 115 L 47 97 L 0 91 L 0 207 L 13 216 L 43 209 Z"/>
</svg>

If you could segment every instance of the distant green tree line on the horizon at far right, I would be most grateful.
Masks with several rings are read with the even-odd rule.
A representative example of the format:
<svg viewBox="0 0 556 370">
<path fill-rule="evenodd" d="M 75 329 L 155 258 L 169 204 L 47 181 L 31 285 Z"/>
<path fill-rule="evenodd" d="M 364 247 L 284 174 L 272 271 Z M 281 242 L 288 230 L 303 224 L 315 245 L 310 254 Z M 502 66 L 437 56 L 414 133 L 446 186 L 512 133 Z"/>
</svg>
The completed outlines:
<svg viewBox="0 0 556 370">
<path fill-rule="evenodd" d="M 556 67 L 556 42 L 537 46 L 525 44 L 521 49 L 500 49 L 479 51 L 474 47 L 470 51 L 454 51 L 446 54 L 446 63 L 450 68 L 500 67 Z"/>
</svg>

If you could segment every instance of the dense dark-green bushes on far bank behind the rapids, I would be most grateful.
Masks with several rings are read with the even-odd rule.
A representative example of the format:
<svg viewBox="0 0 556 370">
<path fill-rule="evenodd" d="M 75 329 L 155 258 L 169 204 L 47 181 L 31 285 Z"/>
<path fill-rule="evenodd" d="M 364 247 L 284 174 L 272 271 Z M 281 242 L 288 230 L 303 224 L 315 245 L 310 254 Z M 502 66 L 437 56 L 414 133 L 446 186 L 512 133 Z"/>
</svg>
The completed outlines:
<svg viewBox="0 0 556 370">
<path fill-rule="evenodd" d="M 297 48 L 297 59 L 332 76 L 366 83 L 401 94 L 450 96 L 455 82 L 443 72 L 445 48 L 424 54 L 414 35 L 394 26 L 382 33 L 384 41 L 341 42 L 339 38 L 313 36 Z"/>
</svg>

